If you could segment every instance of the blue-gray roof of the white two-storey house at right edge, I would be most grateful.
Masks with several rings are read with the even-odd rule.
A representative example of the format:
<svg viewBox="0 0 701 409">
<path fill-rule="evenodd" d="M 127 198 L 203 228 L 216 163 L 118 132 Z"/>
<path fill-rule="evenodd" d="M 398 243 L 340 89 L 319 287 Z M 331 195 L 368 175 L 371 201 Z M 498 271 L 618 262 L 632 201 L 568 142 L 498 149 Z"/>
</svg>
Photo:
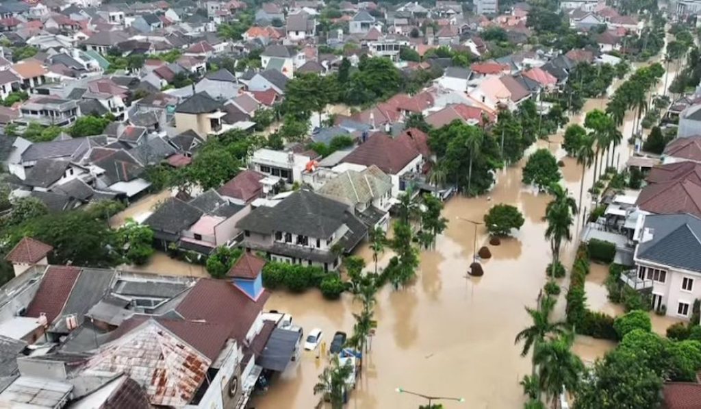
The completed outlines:
<svg viewBox="0 0 701 409">
<path fill-rule="evenodd" d="M 672 267 L 701 271 L 701 219 L 690 214 L 646 215 L 637 257 Z"/>
</svg>

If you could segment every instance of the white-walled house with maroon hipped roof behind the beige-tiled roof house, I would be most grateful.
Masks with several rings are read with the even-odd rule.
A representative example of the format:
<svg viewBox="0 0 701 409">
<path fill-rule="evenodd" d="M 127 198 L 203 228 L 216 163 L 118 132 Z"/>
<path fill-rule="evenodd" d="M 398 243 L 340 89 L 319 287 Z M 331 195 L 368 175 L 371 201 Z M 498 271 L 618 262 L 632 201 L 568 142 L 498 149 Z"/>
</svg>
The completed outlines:
<svg viewBox="0 0 701 409">
<path fill-rule="evenodd" d="M 411 128 L 402 135 L 392 138 L 385 133 L 374 133 L 350 154 L 342 163 L 355 163 L 362 166 L 377 166 L 390 176 L 392 196 L 399 196 L 405 186 L 401 177 L 407 173 L 423 172 L 424 161 L 430 159 L 428 135 Z"/>
</svg>

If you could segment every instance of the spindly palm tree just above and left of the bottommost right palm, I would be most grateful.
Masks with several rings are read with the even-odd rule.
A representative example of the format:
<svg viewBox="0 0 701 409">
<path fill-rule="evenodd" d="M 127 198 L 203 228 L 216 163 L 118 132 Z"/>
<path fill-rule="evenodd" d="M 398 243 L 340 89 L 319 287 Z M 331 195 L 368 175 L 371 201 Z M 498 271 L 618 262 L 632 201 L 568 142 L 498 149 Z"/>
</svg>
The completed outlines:
<svg viewBox="0 0 701 409">
<path fill-rule="evenodd" d="M 562 333 L 567 324 L 564 322 L 552 323 L 550 322 L 550 313 L 555 307 L 555 300 L 550 296 L 546 296 L 540 299 L 537 309 L 526 307 L 526 312 L 531 316 L 533 324 L 527 328 L 524 328 L 520 333 L 516 335 L 514 340 L 515 344 L 519 342 L 524 343 L 524 348 L 521 351 L 521 356 L 528 355 L 529 351 L 538 347 L 538 345 L 545 340 L 548 335 L 558 335 Z M 531 370 L 531 379 L 536 377 L 536 361 L 535 354 L 531 357 L 531 363 L 533 363 L 533 368 Z"/>
</svg>

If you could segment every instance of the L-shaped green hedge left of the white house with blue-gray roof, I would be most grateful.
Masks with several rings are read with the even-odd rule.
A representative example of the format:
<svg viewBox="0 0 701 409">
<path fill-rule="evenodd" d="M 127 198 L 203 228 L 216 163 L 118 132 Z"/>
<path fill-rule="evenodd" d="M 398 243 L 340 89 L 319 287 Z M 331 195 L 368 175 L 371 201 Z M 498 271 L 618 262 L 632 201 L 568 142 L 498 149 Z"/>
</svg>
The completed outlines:
<svg viewBox="0 0 701 409">
<path fill-rule="evenodd" d="M 572 264 L 570 286 L 566 295 L 567 322 L 574 326 L 578 334 L 616 340 L 618 335 L 613 329 L 613 317 L 587 309 L 587 295 L 584 290 L 587 274 L 589 274 L 589 250 L 587 246 L 582 245 L 577 249 L 575 261 Z"/>
</svg>

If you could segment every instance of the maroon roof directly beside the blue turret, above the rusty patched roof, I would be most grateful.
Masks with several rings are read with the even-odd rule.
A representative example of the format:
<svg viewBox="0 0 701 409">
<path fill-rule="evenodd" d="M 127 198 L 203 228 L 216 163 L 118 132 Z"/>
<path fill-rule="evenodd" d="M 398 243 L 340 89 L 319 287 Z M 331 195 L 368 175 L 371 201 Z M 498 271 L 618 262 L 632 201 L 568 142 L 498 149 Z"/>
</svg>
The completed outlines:
<svg viewBox="0 0 701 409">
<path fill-rule="evenodd" d="M 242 342 L 268 297 L 270 293 L 264 290 L 257 300 L 251 300 L 229 281 L 200 279 L 176 311 L 186 320 L 227 326 L 231 337 Z"/>
</svg>

